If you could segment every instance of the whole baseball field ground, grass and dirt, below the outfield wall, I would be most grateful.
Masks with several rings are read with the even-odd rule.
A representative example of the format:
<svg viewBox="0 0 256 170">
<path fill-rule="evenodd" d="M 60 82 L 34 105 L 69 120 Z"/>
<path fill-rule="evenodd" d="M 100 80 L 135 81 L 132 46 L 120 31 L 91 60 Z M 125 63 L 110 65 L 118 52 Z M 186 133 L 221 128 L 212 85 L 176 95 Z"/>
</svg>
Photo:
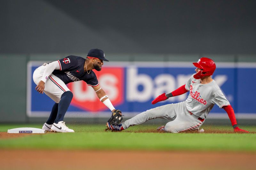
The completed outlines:
<svg viewBox="0 0 256 170">
<path fill-rule="evenodd" d="M 1 169 L 255 169 L 256 128 L 203 125 L 204 133 L 156 133 L 157 124 L 122 132 L 105 125 L 70 124 L 75 133 L 8 134 L 0 125 Z"/>
</svg>

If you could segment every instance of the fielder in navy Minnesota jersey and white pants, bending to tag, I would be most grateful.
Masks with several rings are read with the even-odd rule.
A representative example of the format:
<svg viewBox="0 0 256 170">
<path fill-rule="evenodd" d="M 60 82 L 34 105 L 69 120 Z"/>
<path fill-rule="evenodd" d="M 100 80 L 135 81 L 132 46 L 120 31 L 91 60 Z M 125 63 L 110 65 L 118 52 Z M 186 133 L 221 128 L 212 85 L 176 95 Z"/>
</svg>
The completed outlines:
<svg viewBox="0 0 256 170">
<path fill-rule="evenodd" d="M 97 77 L 92 71 L 93 69 L 100 71 L 103 61 L 108 61 L 103 51 L 91 49 L 86 59 L 70 55 L 52 63 L 44 63 L 34 71 L 33 80 L 37 85 L 36 91 L 41 94 L 45 93 L 55 101 L 52 112 L 42 129 L 54 132 L 74 132 L 63 121 L 73 98 L 73 94 L 66 84 L 74 81 L 83 80 L 87 85 L 92 86 L 100 101 L 112 112 L 115 111 L 115 107 L 108 99 L 106 92 L 100 87 Z"/>
</svg>

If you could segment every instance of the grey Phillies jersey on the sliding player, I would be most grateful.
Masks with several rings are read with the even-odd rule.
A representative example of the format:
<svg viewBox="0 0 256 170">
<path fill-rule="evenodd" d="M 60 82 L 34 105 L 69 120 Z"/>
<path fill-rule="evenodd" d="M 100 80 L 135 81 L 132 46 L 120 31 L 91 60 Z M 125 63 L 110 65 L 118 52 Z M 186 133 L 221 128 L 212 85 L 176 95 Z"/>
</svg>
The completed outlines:
<svg viewBox="0 0 256 170">
<path fill-rule="evenodd" d="M 220 108 L 230 105 L 214 80 L 208 84 L 200 84 L 200 79 L 195 79 L 193 76 L 194 74 L 185 86 L 189 91 L 186 100 L 186 107 L 189 112 L 205 119 L 214 104 L 217 104 Z"/>
</svg>

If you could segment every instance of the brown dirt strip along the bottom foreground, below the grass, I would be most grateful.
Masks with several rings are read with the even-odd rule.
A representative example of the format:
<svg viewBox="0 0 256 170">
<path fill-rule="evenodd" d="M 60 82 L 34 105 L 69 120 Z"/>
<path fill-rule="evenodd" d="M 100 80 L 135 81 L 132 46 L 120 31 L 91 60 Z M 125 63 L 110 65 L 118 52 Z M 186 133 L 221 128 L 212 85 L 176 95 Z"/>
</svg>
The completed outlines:
<svg viewBox="0 0 256 170">
<path fill-rule="evenodd" d="M 254 170 L 255 153 L 92 150 L 0 150 L 1 169 Z"/>
</svg>

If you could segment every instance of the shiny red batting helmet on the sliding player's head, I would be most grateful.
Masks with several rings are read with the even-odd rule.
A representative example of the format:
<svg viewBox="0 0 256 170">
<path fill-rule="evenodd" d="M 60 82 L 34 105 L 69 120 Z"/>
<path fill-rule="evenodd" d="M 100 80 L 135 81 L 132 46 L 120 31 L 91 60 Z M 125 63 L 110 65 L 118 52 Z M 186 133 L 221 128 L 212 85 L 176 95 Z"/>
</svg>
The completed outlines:
<svg viewBox="0 0 256 170">
<path fill-rule="evenodd" d="M 197 63 L 193 63 L 197 68 L 203 69 L 194 75 L 194 78 L 200 79 L 205 76 L 211 76 L 216 69 L 214 61 L 210 58 L 202 57 Z"/>
</svg>

